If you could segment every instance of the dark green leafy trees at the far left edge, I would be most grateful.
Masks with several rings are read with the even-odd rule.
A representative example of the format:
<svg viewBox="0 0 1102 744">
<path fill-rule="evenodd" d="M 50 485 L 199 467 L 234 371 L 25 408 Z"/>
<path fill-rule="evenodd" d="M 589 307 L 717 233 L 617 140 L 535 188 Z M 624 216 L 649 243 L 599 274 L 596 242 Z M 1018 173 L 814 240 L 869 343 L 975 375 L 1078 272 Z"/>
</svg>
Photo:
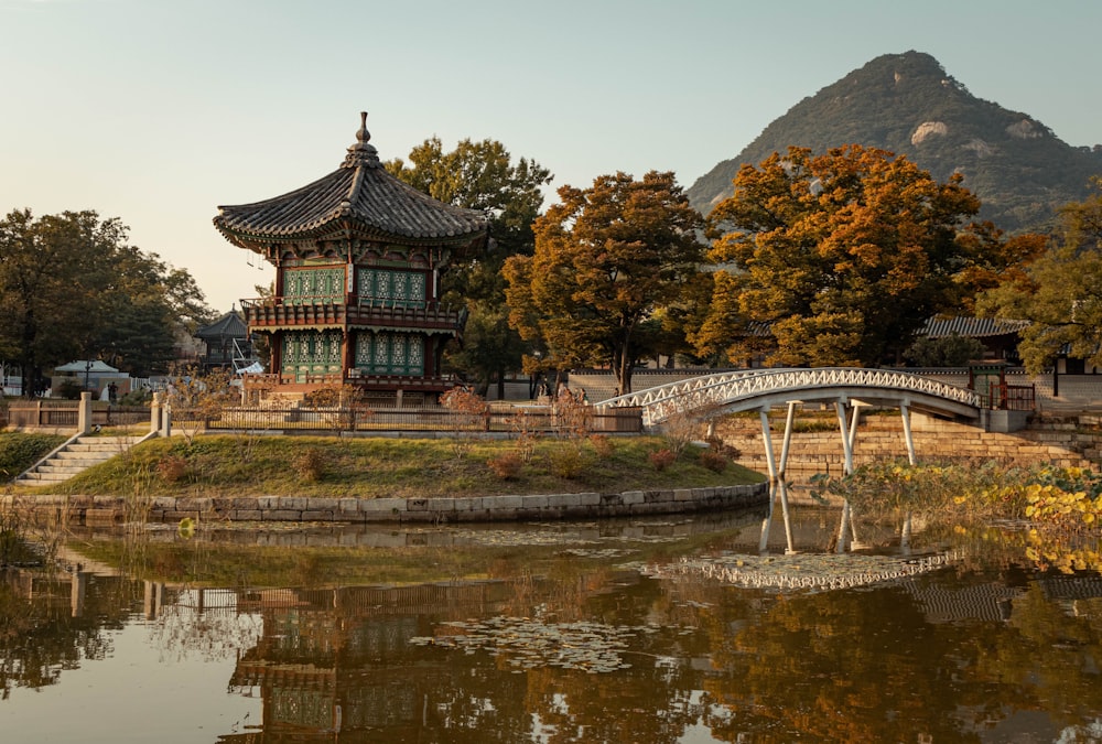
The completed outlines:
<svg viewBox="0 0 1102 744">
<path fill-rule="evenodd" d="M 76 358 L 164 368 L 181 324 L 209 316 L 187 272 L 128 245 L 127 233 L 90 211 L 0 220 L 0 355 L 21 366 L 26 395 L 45 368 Z"/>
</svg>

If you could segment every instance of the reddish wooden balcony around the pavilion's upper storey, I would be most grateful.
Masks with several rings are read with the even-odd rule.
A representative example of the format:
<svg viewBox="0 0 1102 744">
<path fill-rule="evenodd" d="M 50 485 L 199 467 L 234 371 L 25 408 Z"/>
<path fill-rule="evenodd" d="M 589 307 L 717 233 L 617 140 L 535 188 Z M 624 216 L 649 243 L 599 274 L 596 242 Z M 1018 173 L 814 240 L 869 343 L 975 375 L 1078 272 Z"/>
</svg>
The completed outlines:
<svg viewBox="0 0 1102 744">
<path fill-rule="evenodd" d="M 245 322 L 252 331 L 292 328 L 409 328 L 411 331 L 462 330 L 460 312 L 441 305 L 424 306 L 360 304 L 336 302 L 333 298 L 284 298 L 242 300 Z"/>
</svg>

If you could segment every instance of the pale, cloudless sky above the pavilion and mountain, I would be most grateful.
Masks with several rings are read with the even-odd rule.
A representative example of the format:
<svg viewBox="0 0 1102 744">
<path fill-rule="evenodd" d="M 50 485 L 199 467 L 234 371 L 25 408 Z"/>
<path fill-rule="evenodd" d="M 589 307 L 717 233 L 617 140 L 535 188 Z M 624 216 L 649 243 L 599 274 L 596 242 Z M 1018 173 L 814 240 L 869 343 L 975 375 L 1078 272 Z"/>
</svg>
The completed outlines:
<svg viewBox="0 0 1102 744">
<path fill-rule="evenodd" d="M 332 172 L 361 110 L 383 160 L 489 138 L 553 187 L 660 170 L 688 188 L 916 50 L 1093 145 L 1100 29 L 1098 0 L 0 0 L 0 209 L 119 217 L 224 312 L 272 273 L 217 206 Z"/>
</svg>

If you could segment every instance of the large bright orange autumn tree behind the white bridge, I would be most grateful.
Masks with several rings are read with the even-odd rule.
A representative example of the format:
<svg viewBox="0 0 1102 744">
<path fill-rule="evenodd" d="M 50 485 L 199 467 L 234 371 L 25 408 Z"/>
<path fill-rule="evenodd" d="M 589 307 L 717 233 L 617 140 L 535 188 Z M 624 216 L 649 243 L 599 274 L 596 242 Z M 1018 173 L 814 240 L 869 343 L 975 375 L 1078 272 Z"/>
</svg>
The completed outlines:
<svg viewBox="0 0 1102 744">
<path fill-rule="evenodd" d="M 959 176 L 937 183 L 883 150 L 790 148 L 744 165 L 734 187 L 711 215 L 723 272 L 701 352 L 749 356 L 767 336 L 770 364 L 873 366 L 960 308 L 969 271 L 1008 263 L 997 231 L 971 226 L 980 202 Z"/>
</svg>

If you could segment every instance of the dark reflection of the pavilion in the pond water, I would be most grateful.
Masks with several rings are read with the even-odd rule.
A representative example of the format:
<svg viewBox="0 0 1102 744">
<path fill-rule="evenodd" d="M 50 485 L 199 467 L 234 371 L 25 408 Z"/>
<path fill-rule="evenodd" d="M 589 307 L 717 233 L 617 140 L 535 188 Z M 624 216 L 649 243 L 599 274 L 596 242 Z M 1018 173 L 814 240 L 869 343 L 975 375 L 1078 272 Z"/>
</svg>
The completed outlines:
<svg viewBox="0 0 1102 744">
<path fill-rule="evenodd" d="M 263 634 L 239 658 L 230 689 L 262 698 L 266 736 L 335 741 L 383 730 L 386 741 L 404 741 L 423 729 L 434 691 L 456 687 L 455 671 L 409 639 L 500 612 L 514 591 L 482 581 L 241 592 L 238 610 L 259 612 Z"/>
</svg>

